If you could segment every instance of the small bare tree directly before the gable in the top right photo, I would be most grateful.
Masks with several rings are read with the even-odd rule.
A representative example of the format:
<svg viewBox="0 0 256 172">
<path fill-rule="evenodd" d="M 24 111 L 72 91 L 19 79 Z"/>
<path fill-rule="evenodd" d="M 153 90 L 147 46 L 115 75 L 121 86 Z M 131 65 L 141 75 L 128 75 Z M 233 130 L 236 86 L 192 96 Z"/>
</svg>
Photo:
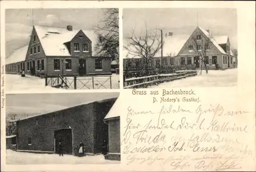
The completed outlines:
<svg viewBox="0 0 256 172">
<path fill-rule="evenodd" d="M 205 36 L 204 36 L 205 35 Z M 202 34 L 200 33 L 199 35 L 195 35 L 191 37 L 192 39 L 192 44 L 193 44 L 193 51 L 197 54 L 198 58 L 202 61 L 201 63 L 201 75 L 202 75 L 202 67 L 204 64 L 206 73 L 208 73 L 207 69 L 207 54 L 212 46 L 212 40 L 214 39 L 212 35 L 208 34 Z"/>
</svg>

